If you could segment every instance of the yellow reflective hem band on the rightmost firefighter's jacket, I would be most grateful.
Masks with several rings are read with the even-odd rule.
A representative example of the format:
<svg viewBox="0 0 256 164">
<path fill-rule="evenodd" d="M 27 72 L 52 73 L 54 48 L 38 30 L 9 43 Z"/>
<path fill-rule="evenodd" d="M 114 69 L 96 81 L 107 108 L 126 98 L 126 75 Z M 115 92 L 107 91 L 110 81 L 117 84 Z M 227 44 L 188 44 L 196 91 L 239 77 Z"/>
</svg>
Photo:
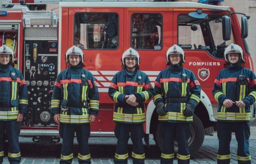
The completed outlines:
<svg viewBox="0 0 256 164">
<path fill-rule="evenodd" d="M 217 112 L 217 120 L 249 121 L 251 120 L 251 112 L 248 112 L 248 113 Z"/>
</svg>

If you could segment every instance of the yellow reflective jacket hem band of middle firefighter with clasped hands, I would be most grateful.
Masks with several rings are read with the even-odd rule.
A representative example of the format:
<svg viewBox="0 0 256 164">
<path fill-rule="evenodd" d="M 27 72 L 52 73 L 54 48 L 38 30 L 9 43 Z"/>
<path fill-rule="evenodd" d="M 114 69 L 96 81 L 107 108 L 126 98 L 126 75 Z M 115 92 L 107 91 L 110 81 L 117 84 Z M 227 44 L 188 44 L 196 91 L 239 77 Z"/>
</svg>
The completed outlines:
<svg viewBox="0 0 256 164">
<path fill-rule="evenodd" d="M 122 111 L 123 112 L 123 111 Z M 146 121 L 146 114 L 126 114 L 126 113 L 118 113 L 114 112 L 113 114 L 113 121 L 118 121 L 118 122 L 144 122 Z"/>
</svg>

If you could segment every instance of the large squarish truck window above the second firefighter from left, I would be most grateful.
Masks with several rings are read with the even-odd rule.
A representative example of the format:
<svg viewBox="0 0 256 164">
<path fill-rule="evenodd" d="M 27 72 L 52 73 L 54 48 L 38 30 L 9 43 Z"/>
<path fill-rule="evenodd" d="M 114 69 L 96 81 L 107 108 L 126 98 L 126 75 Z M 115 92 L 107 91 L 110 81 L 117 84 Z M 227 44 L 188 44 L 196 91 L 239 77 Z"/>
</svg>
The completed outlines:
<svg viewBox="0 0 256 164">
<path fill-rule="evenodd" d="M 81 49 L 117 49 L 117 13 L 76 13 L 74 45 Z"/>
</svg>

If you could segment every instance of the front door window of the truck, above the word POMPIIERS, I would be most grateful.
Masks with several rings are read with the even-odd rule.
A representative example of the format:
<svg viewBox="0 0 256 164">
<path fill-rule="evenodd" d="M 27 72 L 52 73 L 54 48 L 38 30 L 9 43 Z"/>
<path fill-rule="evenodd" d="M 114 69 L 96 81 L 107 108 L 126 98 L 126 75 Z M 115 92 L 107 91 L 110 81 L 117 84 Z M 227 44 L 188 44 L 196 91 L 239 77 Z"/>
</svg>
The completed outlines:
<svg viewBox="0 0 256 164">
<path fill-rule="evenodd" d="M 199 20 L 188 15 L 178 16 L 178 44 L 187 50 L 208 51 L 215 58 L 224 58 L 225 48 L 234 43 L 231 39 L 222 39 L 222 15 L 208 15 Z"/>
</svg>

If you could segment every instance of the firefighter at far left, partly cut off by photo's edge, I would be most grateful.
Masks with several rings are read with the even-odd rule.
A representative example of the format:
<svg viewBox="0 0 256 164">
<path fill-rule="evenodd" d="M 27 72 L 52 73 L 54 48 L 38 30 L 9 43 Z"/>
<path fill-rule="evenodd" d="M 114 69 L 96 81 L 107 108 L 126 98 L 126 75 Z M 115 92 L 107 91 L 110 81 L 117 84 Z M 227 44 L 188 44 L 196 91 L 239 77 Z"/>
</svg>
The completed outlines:
<svg viewBox="0 0 256 164">
<path fill-rule="evenodd" d="M 8 160 L 19 164 L 19 133 L 23 114 L 27 113 L 28 92 L 21 72 L 12 67 L 13 51 L 0 47 L 0 164 L 3 163 L 3 142 L 8 140 Z"/>
</svg>

